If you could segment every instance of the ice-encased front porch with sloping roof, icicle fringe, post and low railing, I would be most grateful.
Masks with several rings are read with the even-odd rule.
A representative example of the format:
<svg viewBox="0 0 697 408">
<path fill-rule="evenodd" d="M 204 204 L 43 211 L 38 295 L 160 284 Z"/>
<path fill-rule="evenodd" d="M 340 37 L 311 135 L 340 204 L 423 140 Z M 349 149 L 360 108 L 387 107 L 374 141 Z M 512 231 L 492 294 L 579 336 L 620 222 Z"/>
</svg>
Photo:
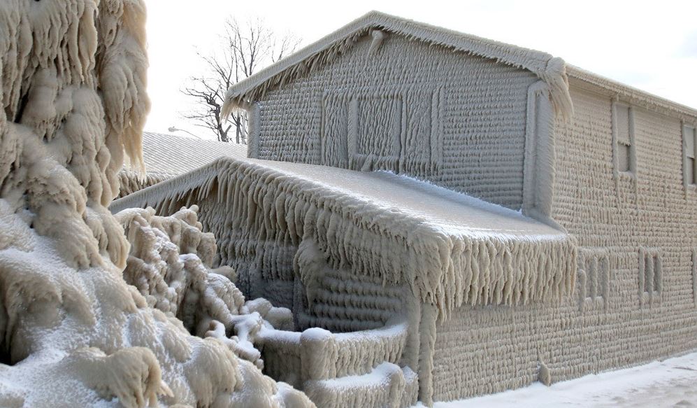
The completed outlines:
<svg viewBox="0 0 697 408">
<path fill-rule="evenodd" d="M 111 209 L 194 202 L 243 293 L 292 305 L 307 329 L 261 333 L 268 372 L 323 406 L 408 406 L 417 391 L 430 405 L 437 320 L 466 304 L 559 304 L 575 282 L 565 233 L 387 172 L 220 159 Z"/>
</svg>

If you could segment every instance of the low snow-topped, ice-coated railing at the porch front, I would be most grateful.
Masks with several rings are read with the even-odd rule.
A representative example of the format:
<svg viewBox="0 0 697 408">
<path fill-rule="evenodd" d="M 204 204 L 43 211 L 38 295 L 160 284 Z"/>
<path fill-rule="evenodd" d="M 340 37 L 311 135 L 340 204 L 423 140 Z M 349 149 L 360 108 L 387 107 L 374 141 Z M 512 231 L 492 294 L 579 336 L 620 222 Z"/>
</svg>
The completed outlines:
<svg viewBox="0 0 697 408">
<path fill-rule="evenodd" d="M 408 404 L 395 406 L 408 406 L 416 402 L 417 376 L 400 367 L 407 336 L 407 318 L 397 316 L 382 328 L 350 333 L 266 329 L 256 342 L 266 374 L 303 389 L 318 406 L 351 407 L 357 406 L 352 401 L 362 401 L 368 405 L 361 406 L 377 407 L 384 405 L 379 401 L 398 404 L 402 398 Z"/>
</svg>

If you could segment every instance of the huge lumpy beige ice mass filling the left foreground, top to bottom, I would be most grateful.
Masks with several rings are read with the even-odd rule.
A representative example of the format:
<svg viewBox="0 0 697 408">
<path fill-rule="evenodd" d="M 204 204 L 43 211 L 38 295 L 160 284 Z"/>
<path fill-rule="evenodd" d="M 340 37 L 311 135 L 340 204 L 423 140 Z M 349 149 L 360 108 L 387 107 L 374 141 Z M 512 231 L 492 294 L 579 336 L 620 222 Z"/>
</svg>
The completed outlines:
<svg viewBox="0 0 697 408">
<path fill-rule="evenodd" d="M 129 258 L 106 210 L 124 151 L 142 166 L 144 23 L 141 0 L 0 3 L 0 405 L 310 406 L 255 367 L 235 315 L 259 301 L 206 269 L 215 245 L 192 211 L 120 217 L 141 239 Z M 186 330 L 206 324 L 212 338 Z"/>
</svg>

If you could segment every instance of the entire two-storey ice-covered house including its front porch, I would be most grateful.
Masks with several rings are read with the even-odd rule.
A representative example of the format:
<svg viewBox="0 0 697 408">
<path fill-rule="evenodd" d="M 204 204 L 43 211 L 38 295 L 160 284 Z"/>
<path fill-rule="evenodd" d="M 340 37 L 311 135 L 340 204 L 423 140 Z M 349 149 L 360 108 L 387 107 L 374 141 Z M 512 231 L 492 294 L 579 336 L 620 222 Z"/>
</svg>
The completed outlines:
<svg viewBox="0 0 697 408">
<path fill-rule="evenodd" d="M 697 348 L 694 109 L 375 12 L 229 106 L 250 112 L 250 159 L 113 207 L 198 204 L 245 294 L 294 310 L 304 331 L 269 336 L 265 370 L 318 405 L 429 405 Z"/>
</svg>

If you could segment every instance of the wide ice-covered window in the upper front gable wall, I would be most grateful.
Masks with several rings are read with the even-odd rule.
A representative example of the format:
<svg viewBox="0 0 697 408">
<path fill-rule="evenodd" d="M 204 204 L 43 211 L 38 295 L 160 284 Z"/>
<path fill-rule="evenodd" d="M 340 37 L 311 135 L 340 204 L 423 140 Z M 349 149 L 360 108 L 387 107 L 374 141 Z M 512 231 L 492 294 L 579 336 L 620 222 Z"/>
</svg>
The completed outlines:
<svg viewBox="0 0 697 408">
<path fill-rule="evenodd" d="M 376 89 L 322 97 L 322 164 L 411 176 L 438 171 L 444 92 Z"/>
</svg>

